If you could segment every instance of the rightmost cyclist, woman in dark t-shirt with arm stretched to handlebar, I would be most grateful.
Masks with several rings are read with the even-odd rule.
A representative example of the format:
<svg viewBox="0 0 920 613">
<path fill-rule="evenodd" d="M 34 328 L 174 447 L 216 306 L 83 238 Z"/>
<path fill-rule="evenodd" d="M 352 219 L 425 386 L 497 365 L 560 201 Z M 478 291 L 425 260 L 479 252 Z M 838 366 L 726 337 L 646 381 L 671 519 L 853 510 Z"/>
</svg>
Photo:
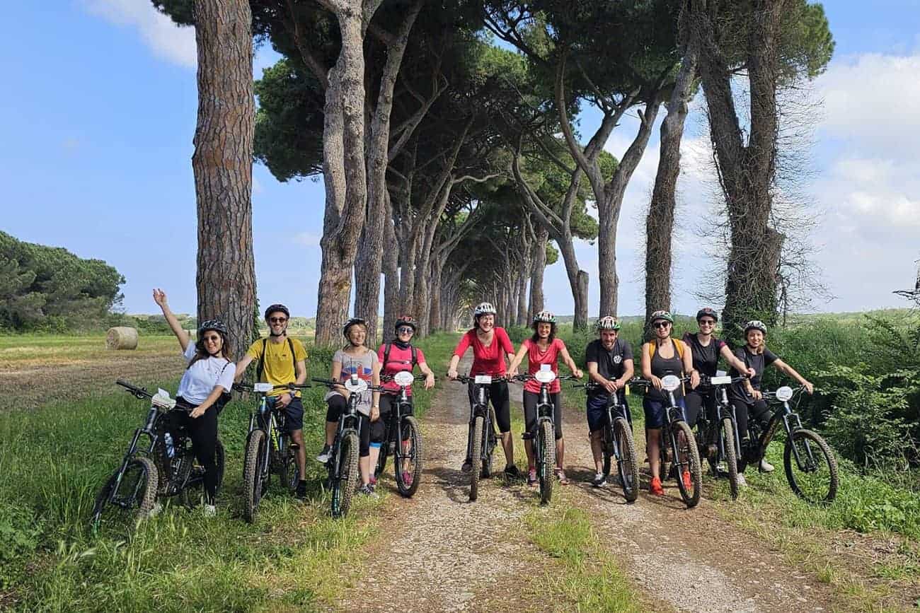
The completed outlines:
<svg viewBox="0 0 920 613">
<path fill-rule="evenodd" d="M 786 373 L 789 377 L 799 381 L 799 384 L 805 387 L 809 393 L 814 392 L 814 386 L 811 382 L 799 375 L 796 369 L 793 369 L 786 362 L 776 357 L 776 354 L 766 348 L 764 338 L 766 336 L 766 324 L 754 320 L 744 324 L 744 340 L 746 345 L 735 350 L 735 357 L 738 358 L 745 367 L 753 369 L 754 374 L 750 379 L 741 383 L 736 383 L 729 388 L 729 399 L 735 407 L 735 417 L 738 419 L 738 432 L 742 437 L 742 449 L 751 445 L 748 439 L 748 419 L 752 418 L 762 426 L 766 427 L 770 422 L 770 407 L 764 401 L 764 395 L 760 392 L 760 380 L 764 375 L 764 369 L 770 366 L 776 366 L 777 369 Z M 738 377 L 738 369 L 731 369 L 731 376 Z M 738 484 L 746 485 L 742 472 L 746 468 L 743 462 L 745 454 L 738 460 Z M 764 472 L 773 471 L 773 466 L 766 460 L 760 460 L 760 470 Z"/>
</svg>

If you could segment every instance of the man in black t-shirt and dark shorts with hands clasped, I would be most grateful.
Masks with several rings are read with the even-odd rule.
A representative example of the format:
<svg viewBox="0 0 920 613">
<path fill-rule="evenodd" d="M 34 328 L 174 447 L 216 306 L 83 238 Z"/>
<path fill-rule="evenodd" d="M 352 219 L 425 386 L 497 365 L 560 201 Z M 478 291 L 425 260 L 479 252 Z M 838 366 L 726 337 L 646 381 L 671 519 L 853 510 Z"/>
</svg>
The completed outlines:
<svg viewBox="0 0 920 613">
<path fill-rule="evenodd" d="M 602 433 L 607 421 L 607 401 L 612 393 L 620 394 L 620 401 L 626 403 L 623 390 L 633 376 L 632 347 L 622 338 L 617 338 L 620 323 L 615 317 L 606 316 L 597 321 L 600 338 L 588 344 L 584 351 L 588 366 L 588 377 L 599 383 L 599 390 L 588 393 L 588 430 L 591 432 L 591 451 L 594 456 L 594 487 L 606 485 L 604 475 L 604 454 Z"/>
</svg>

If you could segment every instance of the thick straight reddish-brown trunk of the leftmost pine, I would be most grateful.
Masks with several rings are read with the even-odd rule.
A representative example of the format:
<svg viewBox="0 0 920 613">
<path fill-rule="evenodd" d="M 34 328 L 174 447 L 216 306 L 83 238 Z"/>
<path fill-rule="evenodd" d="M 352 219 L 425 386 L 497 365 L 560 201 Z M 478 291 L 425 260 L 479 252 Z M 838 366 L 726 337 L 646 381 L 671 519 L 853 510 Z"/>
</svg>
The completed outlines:
<svg viewBox="0 0 920 613">
<path fill-rule="evenodd" d="M 198 321 L 220 317 L 239 358 L 255 335 L 252 251 L 252 14 L 246 0 L 196 0 Z"/>
</svg>

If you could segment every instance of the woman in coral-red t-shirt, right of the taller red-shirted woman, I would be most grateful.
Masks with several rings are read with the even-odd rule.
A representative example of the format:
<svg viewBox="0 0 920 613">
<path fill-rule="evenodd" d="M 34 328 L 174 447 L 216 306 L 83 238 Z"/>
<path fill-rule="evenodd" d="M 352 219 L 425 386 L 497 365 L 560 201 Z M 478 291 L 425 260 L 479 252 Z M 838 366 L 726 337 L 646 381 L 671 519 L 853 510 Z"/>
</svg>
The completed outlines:
<svg viewBox="0 0 920 613">
<path fill-rule="evenodd" d="M 543 365 L 549 365 L 557 375 L 559 374 L 558 360 L 561 356 L 566 367 L 572 374 L 581 379 L 581 369 L 569 356 L 569 350 L 561 338 L 556 337 L 556 316 L 548 311 L 541 311 L 534 316 L 534 335 L 524 339 L 517 355 L 512 359 L 509 373 L 512 377 L 517 374 L 517 368 L 527 357 L 527 372 L 535 374 Z M 566 472 L 562 469 L 563 455 L 565 454 L 565 441 L 562 438 L 562 386 L 559 380 L 554 380 L 549 385 L 549 399 L 553 403 L 553 425 L 556 430 L 556 476 L 563 485 L 569 482 Z M 540 397 L 540 382 L 528 380 L 523 386 L 523 419 L 524 419 L 524 450 L 527 452 L 527 484 L 536 484 L 536 465 L 534 460 L 534 443 L 531 432 L 536 426 L 536 403 Z"/>
</svg>

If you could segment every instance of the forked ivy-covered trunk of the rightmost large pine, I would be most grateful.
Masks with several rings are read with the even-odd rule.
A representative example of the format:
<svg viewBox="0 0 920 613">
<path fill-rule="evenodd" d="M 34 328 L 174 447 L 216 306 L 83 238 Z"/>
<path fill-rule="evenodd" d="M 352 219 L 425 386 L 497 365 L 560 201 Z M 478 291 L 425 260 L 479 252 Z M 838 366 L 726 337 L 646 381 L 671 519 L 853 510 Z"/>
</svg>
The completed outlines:
<svg viewBox="0 0 920 613">
<path fill-rule="evenodd" d="M 784 236 L 770 227 L 776 172 L 776 39 L 784 2 L 753 3 L 750 11 L 747 68 L 751 85 L 751 127 L 747 144 L 731 94 L 731 73 L 719 49 L 716 8 L 691 2 L 690 27 L 700 37 L 699 71 L 706 95 L 709 131 L 719 180 L 726 200 L 730 254 L 723 329 L 740 340 L 750 319 L 776 322 L 776 287 Z"/>
</svg>

